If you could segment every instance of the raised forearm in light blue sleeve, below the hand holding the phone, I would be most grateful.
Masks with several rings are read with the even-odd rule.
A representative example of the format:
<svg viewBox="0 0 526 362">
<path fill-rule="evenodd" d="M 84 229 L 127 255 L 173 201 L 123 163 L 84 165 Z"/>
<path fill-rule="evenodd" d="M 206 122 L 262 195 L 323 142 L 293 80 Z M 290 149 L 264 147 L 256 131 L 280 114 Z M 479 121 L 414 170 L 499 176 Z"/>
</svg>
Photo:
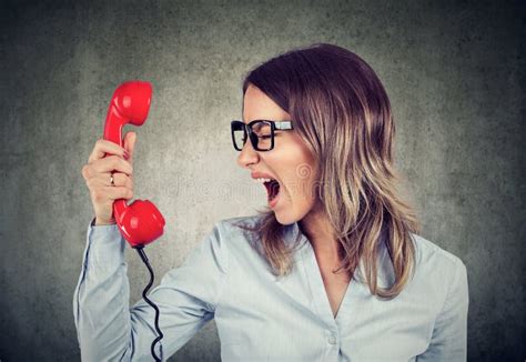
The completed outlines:
<svg viewBox="0 0 526 362">
<path fill-rule="evenodd" d="M 88 228 L 73 314 L 82 361 L 120 360 L 131 341 L 124 241 L 117 225 Z"/>
</svg>

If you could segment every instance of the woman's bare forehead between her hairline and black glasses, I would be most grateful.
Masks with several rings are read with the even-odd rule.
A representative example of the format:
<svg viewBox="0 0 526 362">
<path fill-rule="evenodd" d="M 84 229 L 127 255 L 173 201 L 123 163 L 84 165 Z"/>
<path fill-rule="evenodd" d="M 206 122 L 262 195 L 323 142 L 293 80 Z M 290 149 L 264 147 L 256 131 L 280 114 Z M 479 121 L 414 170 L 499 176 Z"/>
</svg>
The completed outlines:
<svg viewBox="0 0 526 362">
<path fill-rule="evenodd" d="M 243 97 L 243 122 L 253 120 L 286 120 L 290 114 L 259 88 L 250 84 Z"/>
</svg>

